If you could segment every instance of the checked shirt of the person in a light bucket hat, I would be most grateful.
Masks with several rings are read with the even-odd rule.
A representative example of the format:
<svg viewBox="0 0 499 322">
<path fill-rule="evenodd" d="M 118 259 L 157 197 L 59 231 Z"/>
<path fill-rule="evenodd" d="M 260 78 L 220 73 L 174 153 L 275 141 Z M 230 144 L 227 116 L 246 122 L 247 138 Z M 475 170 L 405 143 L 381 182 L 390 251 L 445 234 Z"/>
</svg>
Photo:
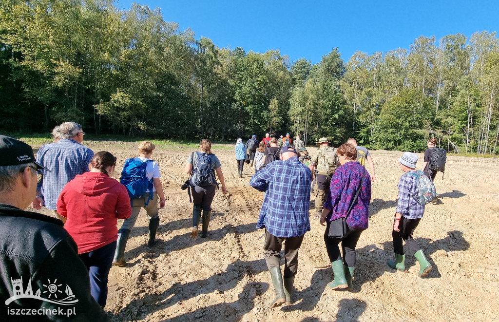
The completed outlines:
<svg viewBox="0 0 499 322">
<path fill-rule="evenodd" d="M 416 201 L 418 198 L 418 179 L 406 172 L 400 177 L 397 187 L 399 188 L 397 212 L 400 212 L 407 219 L 423 218 L 425 206 Z"/>
</svg>

